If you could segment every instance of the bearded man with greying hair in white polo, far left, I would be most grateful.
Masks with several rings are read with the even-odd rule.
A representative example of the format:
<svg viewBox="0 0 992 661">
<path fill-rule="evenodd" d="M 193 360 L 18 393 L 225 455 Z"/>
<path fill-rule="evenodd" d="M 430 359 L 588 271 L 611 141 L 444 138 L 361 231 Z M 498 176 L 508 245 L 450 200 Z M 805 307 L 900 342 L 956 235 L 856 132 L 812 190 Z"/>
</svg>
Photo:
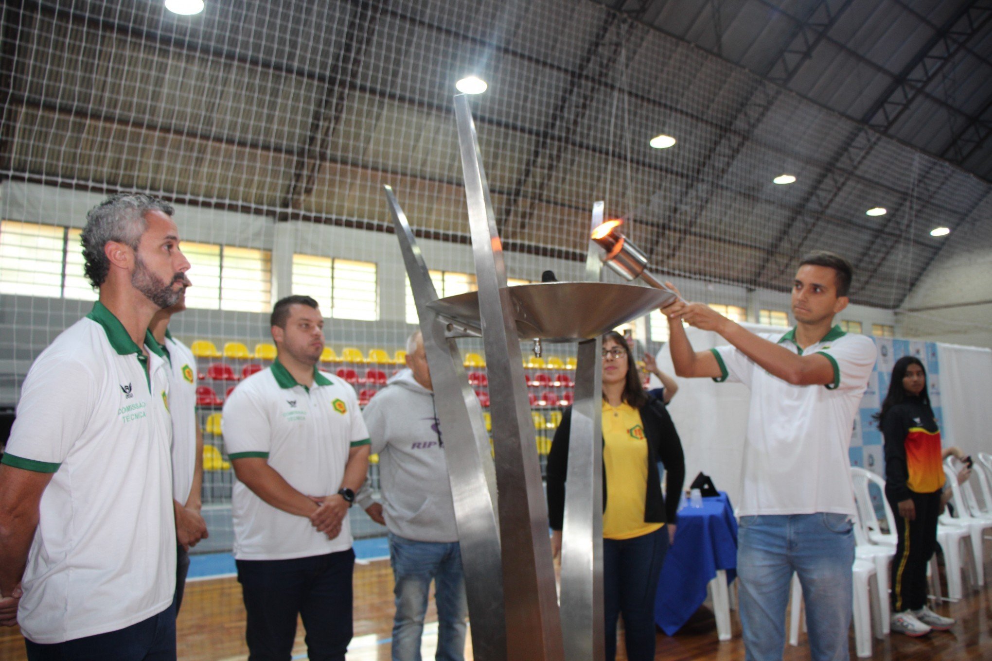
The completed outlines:
<svg viewBox="0 0 992 661">
<path fill-rule="evenodd" d="M 172 214 L 142 194 L 87 214 L 99 300 L 21 390 L 0 466 L 0 622 L 20 623 L 32 661 L 176 658 L 168 365 L 147 346 L 186 286 Z"/>
</svg>

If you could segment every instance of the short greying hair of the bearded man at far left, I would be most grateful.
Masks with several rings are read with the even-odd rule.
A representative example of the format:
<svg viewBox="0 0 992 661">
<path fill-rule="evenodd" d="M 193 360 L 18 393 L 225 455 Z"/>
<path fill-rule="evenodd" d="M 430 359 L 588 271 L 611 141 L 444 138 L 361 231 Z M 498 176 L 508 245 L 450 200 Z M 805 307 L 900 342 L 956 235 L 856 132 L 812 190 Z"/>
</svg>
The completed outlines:
<svg viewBox="0 0 992 661">
<path fill-rule="evenodd" d="M 103 253 L 108 242 L 116 241 L 138 250 L 141 235 L 148 229 L 145 214 L 149 211 L 161 211 L 167 216 L 176 213 L 169 202 L 145 193 L 111 195 L 89 210 L 81 244 L 82 270 L 90 284 L 100 286 L 110 273 L 110 260 Z"/>
</svg>

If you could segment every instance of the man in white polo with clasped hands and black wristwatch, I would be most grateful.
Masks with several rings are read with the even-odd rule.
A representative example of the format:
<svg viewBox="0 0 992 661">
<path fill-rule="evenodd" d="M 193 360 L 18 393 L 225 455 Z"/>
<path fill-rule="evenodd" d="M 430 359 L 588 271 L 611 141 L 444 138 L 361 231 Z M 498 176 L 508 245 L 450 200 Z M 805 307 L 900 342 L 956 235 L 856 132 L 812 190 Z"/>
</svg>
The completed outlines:
<svg viewBox="0 0 992 661">
<path fill-rule="evenodd" d="M 289 659 L 297 615 L 310 661 L 344 661 L 351 641 L 348 507 L 365 481 L 369 438 L 355 390 L 319 372 L 323 316 L 310 296 L 272 310 L 279 350 L 224 403 L 237 481 L 234 558 L 251 659 Z"/>
</svg>

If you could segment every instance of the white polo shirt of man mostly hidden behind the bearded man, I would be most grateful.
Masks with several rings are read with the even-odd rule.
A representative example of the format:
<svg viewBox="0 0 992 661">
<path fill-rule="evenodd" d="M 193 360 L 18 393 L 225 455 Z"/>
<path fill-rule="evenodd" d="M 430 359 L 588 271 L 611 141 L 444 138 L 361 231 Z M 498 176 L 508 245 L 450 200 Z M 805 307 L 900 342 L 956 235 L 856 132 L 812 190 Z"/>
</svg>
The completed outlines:
<svg viewBox="0 0 992 661">
<path fill-rule="evenodd" d="M 166 330 L 162 347 L 149 333 L 149 347 L 165 349 L 169 362 L 169 408 L 173 414 L 173 497 L 186 504 L 196 470 L 196 359 L 185 344 Z"/>
</svg>

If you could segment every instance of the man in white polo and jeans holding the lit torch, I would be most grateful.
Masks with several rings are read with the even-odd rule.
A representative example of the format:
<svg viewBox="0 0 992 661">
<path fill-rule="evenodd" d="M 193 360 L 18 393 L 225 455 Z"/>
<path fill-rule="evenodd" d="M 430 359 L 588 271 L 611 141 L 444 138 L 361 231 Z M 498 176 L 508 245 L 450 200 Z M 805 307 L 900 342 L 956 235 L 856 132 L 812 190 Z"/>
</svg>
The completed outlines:
<svg viewBox="0 0 992 661">
<path fill-rule="evenodd" d="M 756 335 L 702 303 L 662 309 L 677 375 L 751 388 L 737 553 L 749 660 L 782 658 L 794 572 L 812 659 L 848 658 L 855 510 L 847 450 L 876 357 L 871 339 L 832 325 L 851 275 L 833 253 L 803 258 L 793 282 L 796 327 L 786 333 Z M 681 320 L 730 346 L 692 351 Z"/>
</svg>

